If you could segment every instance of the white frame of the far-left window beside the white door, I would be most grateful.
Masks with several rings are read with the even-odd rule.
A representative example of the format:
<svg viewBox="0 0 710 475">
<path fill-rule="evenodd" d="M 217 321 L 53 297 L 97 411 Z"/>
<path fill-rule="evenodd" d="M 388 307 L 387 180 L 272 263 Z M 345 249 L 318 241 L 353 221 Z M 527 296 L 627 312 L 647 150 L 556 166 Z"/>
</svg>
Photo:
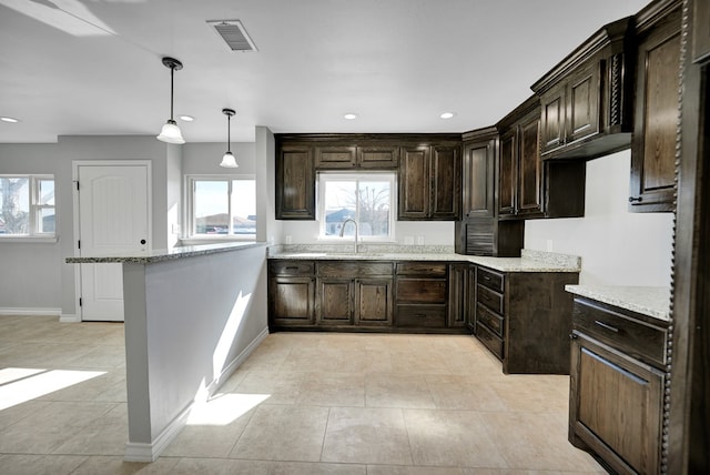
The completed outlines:
<svg viewBox="0 0 710 475">
<path fill-rule="evenodd" d="M 28 179 L 28 233 L 0 234 L 0 241 L 12 242 L 57 242 L 57 228 L 59 224 L 57 206 L 57 179 L 51 173 L 2 173 L 0 178 Z M 40 181 L 52 181 L 54 186 L 54 204 L 41 204 Z M 54 210 L 54 231 L 41 232 L 39 220 L 42 210 Z"/>
</svg>

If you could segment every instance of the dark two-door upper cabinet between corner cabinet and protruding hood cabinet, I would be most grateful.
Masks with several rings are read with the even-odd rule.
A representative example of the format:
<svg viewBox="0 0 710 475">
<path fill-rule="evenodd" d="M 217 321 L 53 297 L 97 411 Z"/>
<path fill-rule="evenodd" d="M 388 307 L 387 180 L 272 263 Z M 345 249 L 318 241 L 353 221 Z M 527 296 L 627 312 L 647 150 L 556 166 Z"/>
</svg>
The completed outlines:
<svg viewBox="0 0 710 475">
<path fill-rule="evenodd" d="M 542 161 L 540 104 L 531 97 L 497 124 L 498 218 L 578 218 L 585 214 L 586 163 Z"/>
</svg>

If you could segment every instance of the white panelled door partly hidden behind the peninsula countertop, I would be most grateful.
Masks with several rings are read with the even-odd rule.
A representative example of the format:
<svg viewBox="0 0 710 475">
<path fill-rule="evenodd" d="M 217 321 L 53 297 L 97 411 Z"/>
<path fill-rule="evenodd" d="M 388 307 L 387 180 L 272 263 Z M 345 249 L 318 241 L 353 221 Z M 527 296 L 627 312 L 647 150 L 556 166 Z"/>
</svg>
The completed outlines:
<svg viewBox="0 0 710 475">
<path fill-rule="evenodd" d="M 148 165 L 79 165 L 82 257 L 149 246 Z M 122 264 L 81 264 L 81 320 L 123 321 Z"/>
</svg>

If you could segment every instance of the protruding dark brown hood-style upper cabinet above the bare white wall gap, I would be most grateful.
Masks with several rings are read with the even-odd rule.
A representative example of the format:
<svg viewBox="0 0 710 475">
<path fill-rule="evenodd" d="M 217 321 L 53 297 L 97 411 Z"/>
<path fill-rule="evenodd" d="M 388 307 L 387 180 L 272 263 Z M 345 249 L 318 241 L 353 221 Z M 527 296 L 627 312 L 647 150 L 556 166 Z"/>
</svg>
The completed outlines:
<svg viewBox="0 0 710 475">
<path fill-rule="evenodd" d="M 540 98 L 540 153 L 594 159 L 631 143 L 631 18 L 609 23 L 531 89 Z"/>
</svg>

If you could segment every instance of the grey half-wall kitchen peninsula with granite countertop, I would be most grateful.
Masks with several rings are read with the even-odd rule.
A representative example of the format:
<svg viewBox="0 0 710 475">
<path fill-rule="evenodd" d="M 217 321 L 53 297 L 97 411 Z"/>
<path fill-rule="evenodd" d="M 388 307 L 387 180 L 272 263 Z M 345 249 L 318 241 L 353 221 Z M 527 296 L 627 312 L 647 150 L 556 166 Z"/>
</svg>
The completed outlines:
<svg viewBox="0 0 710 475">
<path fill-rule="evenodd" d="M 125 461 L 155 461 L 266 337 L 264 256 L 264 244 L 233 243 L 67 259 L 123 264 Z"/>
</svg>

